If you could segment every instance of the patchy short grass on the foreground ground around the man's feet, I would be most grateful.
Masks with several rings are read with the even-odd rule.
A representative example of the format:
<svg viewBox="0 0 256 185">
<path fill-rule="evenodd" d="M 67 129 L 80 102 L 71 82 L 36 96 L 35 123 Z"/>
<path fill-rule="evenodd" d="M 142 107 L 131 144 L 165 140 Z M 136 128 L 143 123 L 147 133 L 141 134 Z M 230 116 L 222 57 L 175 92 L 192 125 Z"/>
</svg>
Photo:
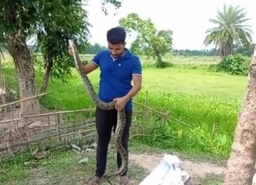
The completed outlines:
<svg viewBox="0 0 256 185">
<path fill-rule="evenodd" d="M 47 158 L 40 160 L 34 159 L 32 152 L 31 149 L 27 149 L 7 162 L 0 162 L 1 185 L 84 185 L 84 182 L 94 175 L 95 152 L 77 153 L 67 148 L 56 147 L 50 149 Z M 88 158 L 88 162 L 78 164 L 84 158 Z M 112 149 L 107 157 L 106 172 L 115 170 L 116 150 Z M 130 165 L 128 173 L 129 177 L 135 180 L 135 184 L 139 184 L 138 182 L 147 175 L 142 167 L 135 164 Z M 116 181 L 115 177 L 110 180 Z M 101 183 L 103 185 L 107 181 L 103 179 Z"/>
</svg>

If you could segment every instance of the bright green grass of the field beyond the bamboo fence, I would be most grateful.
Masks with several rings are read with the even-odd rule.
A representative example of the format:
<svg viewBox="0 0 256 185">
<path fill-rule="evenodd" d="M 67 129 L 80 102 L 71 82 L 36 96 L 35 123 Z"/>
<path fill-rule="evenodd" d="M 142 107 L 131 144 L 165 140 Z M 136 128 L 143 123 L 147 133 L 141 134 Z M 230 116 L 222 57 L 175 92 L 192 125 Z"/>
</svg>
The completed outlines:
<svg viewBox="0 0 256 185">
<path fill-rule="evenodd" d="M 90 59 L 92 56 L 85 56 Z M 247 77 L 231 76 L 211 72 L 204 67 L 218 63 L 211 57 L 172 57 L 169 62 L 174 68 L 143 69 L 143 89 L 137 101 L 144 102 L 148 92 L 149 107 L 168 111 L 172 117 L 192 126 L 168 120 L 161 126 L 158 117 L 151 117 L 145 125 L 150 137 L 139 137 L 137 143 L 149 146 L 172 148 L 191 153 L 226 158 L 230 151 L 233 131 L 237 122 L 242 100 L 245 95 Z M 142 62 L 150 60 L 142 57 Z M 195 66 L 190 68 L 186 66 Z M 6 67 L 8 84 L 17 89 L 14 69 Z M 95 88 L 99 81 L 99 71 L 89 75 Z M 37 89 L 42 73 L 37 72 Z M 42 106 L 61 110 L 89 108 L 94 106 L 80 77 L 74 71 L 67 84 L 54 80 L 48 87 L 48 94 L 41 99 Z"/>
</svg>

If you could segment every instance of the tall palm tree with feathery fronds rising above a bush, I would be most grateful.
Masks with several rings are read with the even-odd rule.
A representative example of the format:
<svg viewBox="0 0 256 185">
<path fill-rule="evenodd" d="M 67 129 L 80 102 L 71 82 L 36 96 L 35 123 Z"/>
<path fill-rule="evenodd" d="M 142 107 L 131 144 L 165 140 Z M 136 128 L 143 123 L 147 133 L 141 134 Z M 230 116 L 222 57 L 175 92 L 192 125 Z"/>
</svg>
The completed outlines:
<svg viewBox="0 0 256 185">
<path fill-rule="evenodd" d="M 215 44 L 216 48 L 219 46 L 221 57 L 233 54 L 234 43 L 243 46 L 251 45 L 253 32 L 250 29 L 251 26 L 243 24 L 250 20 L 246 18 L 247 12 L 244 10 L 240 6 L 227 7 L 225 4 L 223 11 L 218 9 L 216 19 L 209 19 L 217 26 L 206 31 L 208 35 L 205 37 L 204 44 Z"/>
</svg>

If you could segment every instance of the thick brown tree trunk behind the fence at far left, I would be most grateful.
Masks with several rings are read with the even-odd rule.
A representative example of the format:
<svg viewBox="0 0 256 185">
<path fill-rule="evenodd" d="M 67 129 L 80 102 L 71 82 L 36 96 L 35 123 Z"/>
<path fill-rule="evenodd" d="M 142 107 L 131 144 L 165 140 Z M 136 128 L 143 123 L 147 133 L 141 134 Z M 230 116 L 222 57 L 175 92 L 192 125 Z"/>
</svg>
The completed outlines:
<svg viewBox="0 0 256 185">
<path fill-rule="evenodd" d="M 20 99 L 36 95 L 35 69 L 25 37 L 18 32 L 6 39 L 7 49 L 14 59 L 16 74 L 19 79 Z M 20 104 L 21 114 L 39 113 L 38 99 L 31 99 Z"/>
</svg>

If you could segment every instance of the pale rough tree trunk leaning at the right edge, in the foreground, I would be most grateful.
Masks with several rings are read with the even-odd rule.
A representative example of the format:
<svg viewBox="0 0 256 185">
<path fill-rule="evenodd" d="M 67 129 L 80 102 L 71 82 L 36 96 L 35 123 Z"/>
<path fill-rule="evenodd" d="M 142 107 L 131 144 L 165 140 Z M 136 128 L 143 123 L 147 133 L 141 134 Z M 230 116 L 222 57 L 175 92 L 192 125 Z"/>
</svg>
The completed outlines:
<svg viewBox="0 0 256 185">
<path fill-rule="evenodd" d="M 256 47 L 251 60 L 247 95 L 228 159 L 224 185 L 251 185 L 256 154 Z"/>
</svg>

